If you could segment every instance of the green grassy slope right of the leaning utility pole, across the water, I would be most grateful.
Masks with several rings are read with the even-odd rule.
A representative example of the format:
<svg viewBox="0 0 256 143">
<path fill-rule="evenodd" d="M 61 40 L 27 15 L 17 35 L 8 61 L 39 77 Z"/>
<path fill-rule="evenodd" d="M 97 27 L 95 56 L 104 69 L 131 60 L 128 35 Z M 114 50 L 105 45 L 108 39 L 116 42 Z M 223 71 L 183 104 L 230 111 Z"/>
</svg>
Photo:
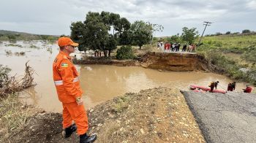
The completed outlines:
<svg viewBox="0 0 256 143">
<path fill-rule="evenodd" d="M 256 34 L 204 36 L 197 53 L 234 80 L 256 85 Z"/>
</svg>

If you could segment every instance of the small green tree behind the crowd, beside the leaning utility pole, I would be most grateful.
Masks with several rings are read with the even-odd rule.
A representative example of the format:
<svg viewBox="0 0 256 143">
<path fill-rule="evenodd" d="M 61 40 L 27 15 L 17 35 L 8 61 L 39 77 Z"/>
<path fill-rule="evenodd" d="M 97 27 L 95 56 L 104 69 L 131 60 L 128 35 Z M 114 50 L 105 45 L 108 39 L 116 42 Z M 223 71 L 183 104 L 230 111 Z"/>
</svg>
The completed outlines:
<svg viewBox="0 0 256 143">
<path fill-rule="evenodd" d="M 198 35 L 198 31 L 196 30 L 197 28 L 187 28 L 184 27 L 182 28 L 182 34 L 181 34 L 181 39 L 184 42 L 188 42 L 189 45 L 191 45 L 192 43 L 195 42 L 195 39 L 197 39 Z"/>
</svg>

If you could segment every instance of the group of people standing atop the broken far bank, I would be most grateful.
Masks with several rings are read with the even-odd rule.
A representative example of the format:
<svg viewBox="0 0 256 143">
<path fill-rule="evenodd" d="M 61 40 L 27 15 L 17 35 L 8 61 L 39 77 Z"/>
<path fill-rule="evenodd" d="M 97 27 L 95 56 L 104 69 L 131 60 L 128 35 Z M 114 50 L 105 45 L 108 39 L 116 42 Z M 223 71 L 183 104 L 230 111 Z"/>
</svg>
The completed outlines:
<svg viewBox="0 0 256 143">
<path fill-rule="evenodd" d="M 171 43 L 171 42 L 157 42 L 157 48 L 161 48 L 164 52 L 179 52 L 181 44 L 180 43 Z M 184 44 L 181 52 L 195 52 L 196 45 Z"/>
</svg>

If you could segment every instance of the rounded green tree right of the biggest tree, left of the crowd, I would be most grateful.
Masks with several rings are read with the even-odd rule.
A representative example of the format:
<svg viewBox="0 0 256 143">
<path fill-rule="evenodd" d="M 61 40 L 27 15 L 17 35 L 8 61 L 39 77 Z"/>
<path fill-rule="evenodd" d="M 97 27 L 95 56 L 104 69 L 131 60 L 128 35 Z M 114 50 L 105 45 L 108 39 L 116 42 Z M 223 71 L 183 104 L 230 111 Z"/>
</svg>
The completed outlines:
<svg viewBox="0 0 256 143">
<path fill-rule="evenodd" d="M 132 23 L 130 31 L 132 34 L 132 43 L 138 45 L 140 49 L 143 45 L 150 42 L 152 26 L 143 20 L 137 20 L 135 23 Z"/>
</svg>

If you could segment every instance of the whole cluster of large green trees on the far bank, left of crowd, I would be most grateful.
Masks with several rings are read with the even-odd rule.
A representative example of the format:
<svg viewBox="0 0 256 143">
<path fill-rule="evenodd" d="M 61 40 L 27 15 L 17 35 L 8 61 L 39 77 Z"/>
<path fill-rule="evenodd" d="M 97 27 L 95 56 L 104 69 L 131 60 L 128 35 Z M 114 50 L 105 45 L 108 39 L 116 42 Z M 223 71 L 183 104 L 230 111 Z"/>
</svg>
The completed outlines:
<svg viewBox="0 0 256 143">
<path fill-rule="evenodd" d="M 110 56 L 117 45 L 143 45 L 150 43 L 154 31 L 162 31 L 157 24 L 127 18 L 113 12 L 88 12 L 86 20 L 71 24 L 71 38 L 79 43 L 79 50 L 100 50 Z M 107 55 L 108 51 L 108 55 Z"/>
</svg>

